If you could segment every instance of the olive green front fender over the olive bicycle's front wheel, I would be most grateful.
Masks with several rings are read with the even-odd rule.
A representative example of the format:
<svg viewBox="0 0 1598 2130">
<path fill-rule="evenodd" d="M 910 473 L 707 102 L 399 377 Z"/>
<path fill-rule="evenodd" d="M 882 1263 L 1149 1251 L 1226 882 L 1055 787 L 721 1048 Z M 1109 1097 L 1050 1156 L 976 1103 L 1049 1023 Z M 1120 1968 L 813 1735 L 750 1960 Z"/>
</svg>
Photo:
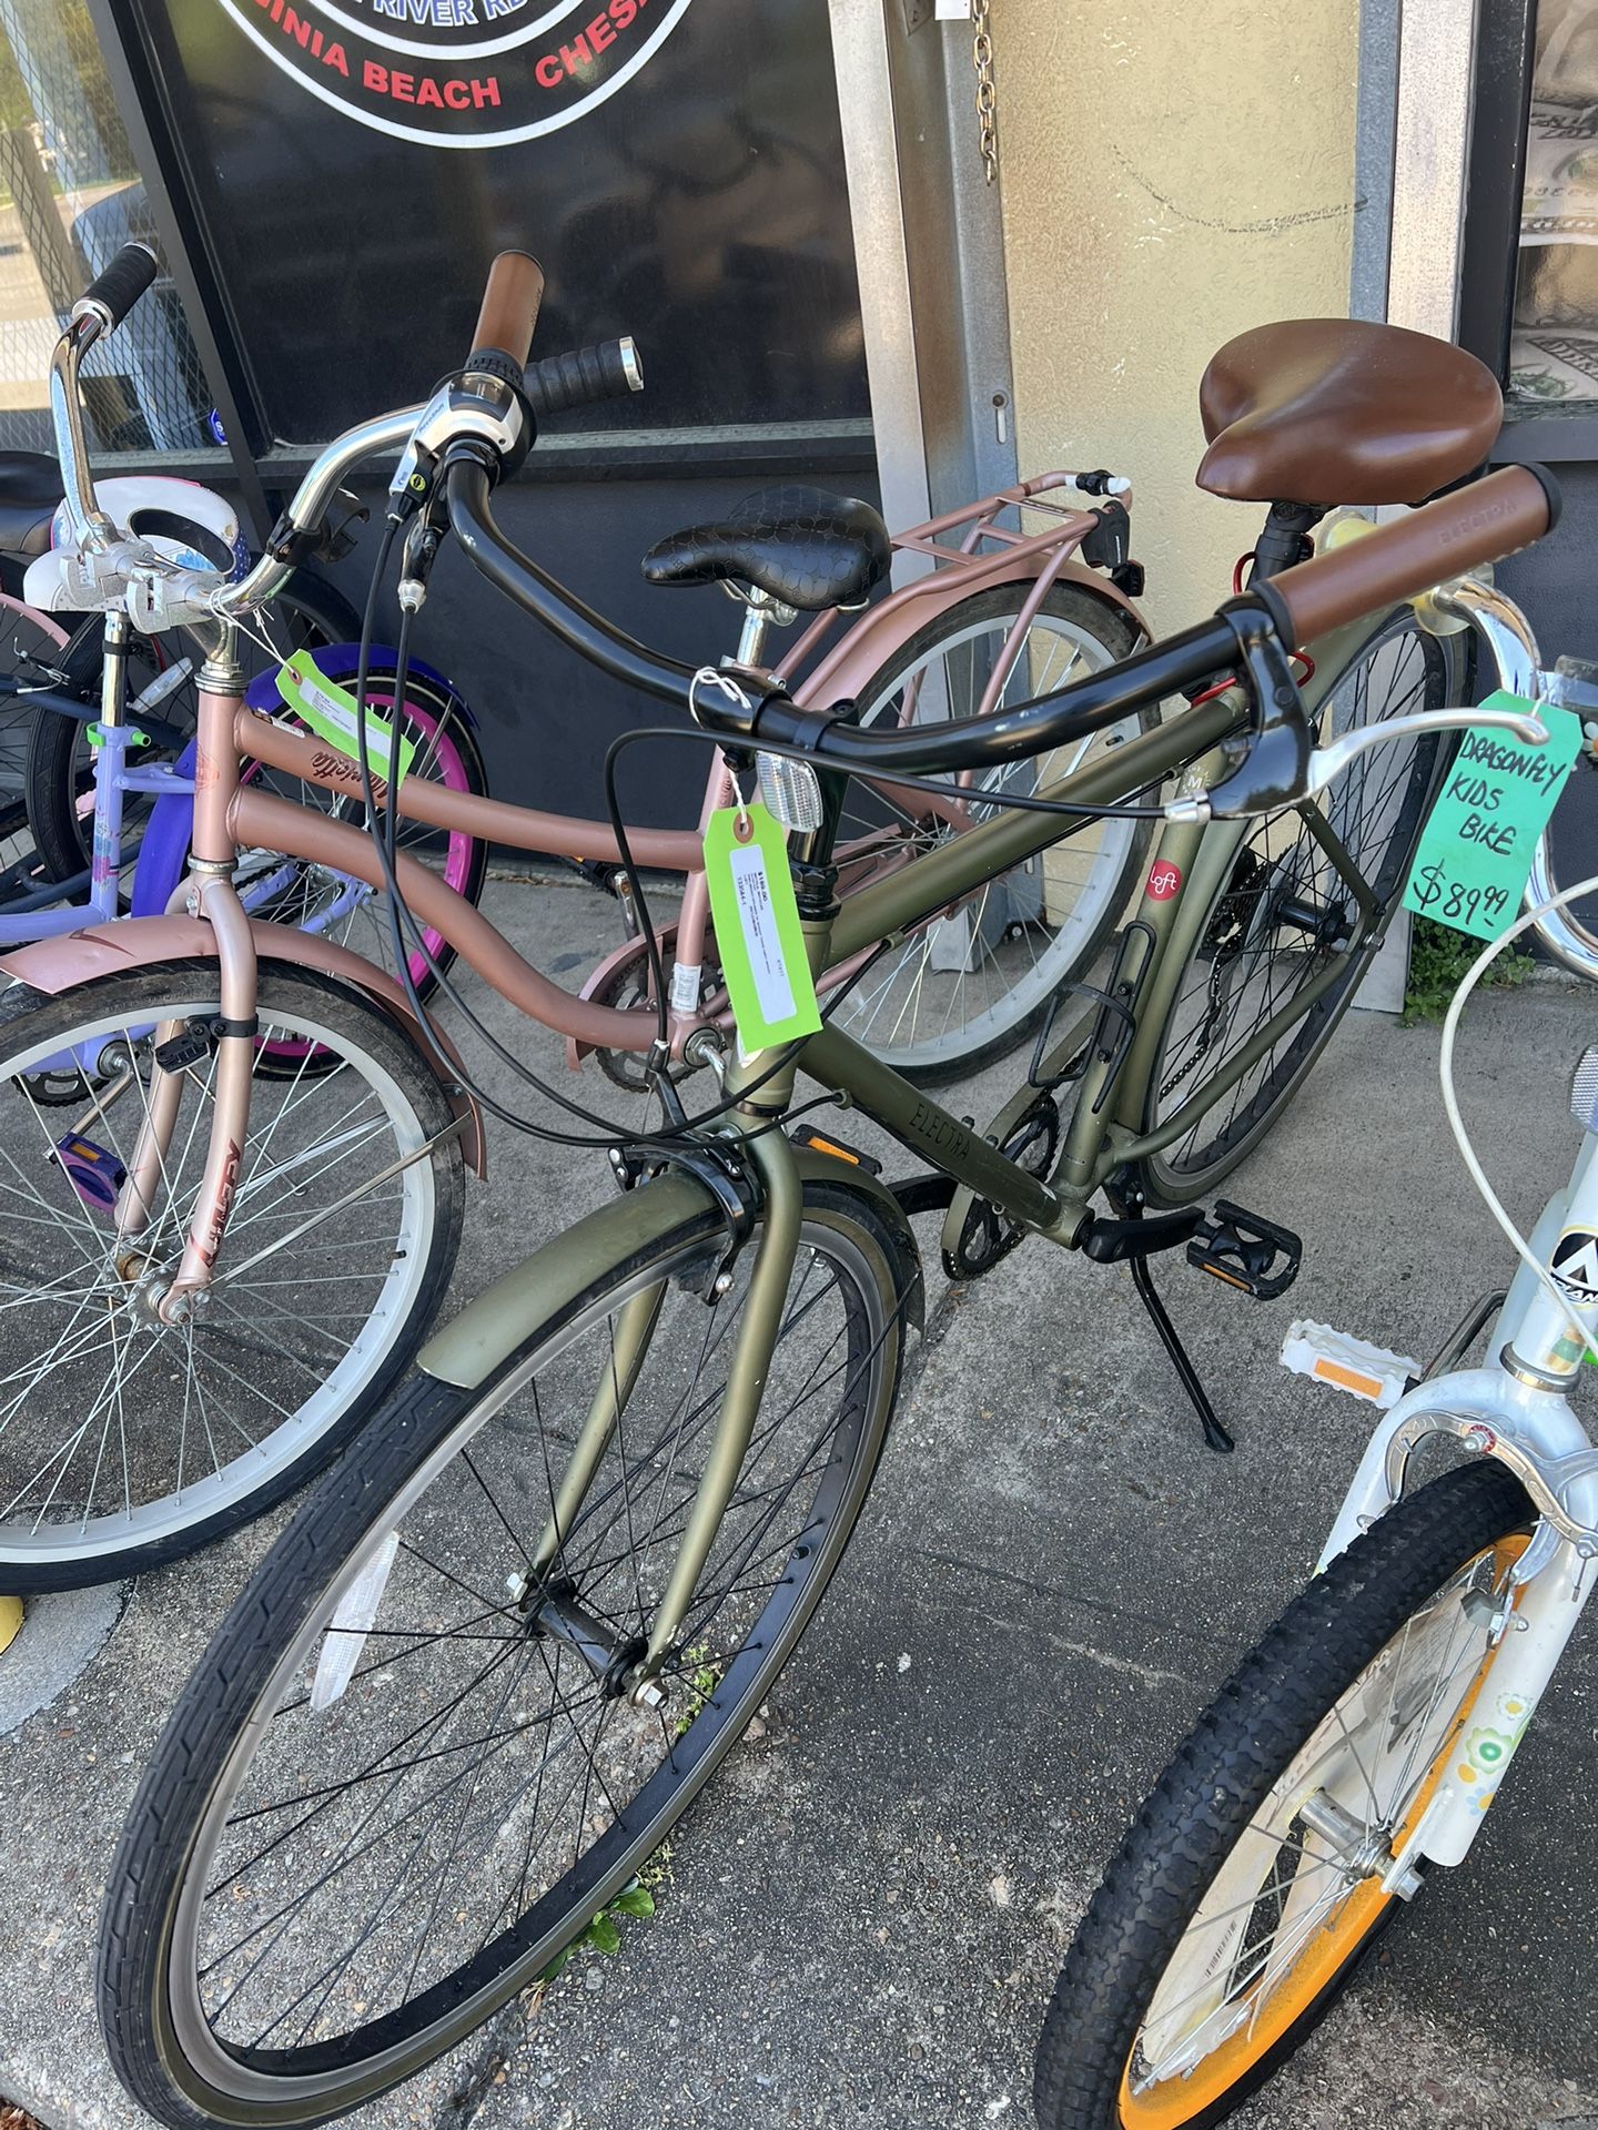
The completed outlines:
<svg viewBox="0 0 1598 2130">
<path fill-rule="evenodd" d="M 795 1146 L 793 1152 L 805 1182 L 839 1184 L 871 1201 L 882 1229 L 903 1255 L 903 1310 L 920 1329 L 920 1255 L 899 1201 L 876 1176 L 848 1161 L 808 1146 Z M 558 1331 L 562 1321 L 575 1316 L 594 1280 L 631 1259 L 646 1263 L 661 1240 L 686 1223 L 701 1223 L 705 1235 L 724 1233 L 722 1212 L 710 1189 L 684 1169 L 667 1169 L 637 1191 L 624 1191 L 484 1289 L 428 1340 L 418 1367 L 462 1391 L 494 1382 L 537 1331 Z M 891 1274 L 899 1269 L 888 1265 Z"/>
</svg>

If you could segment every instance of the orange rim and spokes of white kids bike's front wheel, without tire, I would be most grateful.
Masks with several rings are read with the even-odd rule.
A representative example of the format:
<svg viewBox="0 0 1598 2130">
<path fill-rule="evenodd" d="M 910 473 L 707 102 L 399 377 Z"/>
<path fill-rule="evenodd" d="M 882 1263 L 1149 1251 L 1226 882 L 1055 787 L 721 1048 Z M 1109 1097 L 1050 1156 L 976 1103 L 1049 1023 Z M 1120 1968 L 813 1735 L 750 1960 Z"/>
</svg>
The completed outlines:
<svg viewBox="0 0 1598 2130">
<path fill-rule="evenodd" d="M 1526 1544 L 1513 1534 L 1449 1576 L 1272 1785 L 1148 2002 L 1121 2075 L 1123 2130 L 1191 2124 L 1310 2011 L 1398 1898 L 1376 1853 L 1391 1862 L 1455 1762 L 1460 1781 L 1483 1785 L 1481 1808 L 1491 1802 L 1494 1753 L 1502 1759 L 1528 1710 L 1517 1698 L 1494 1710 L 1506 1725 L 1498 1747 L 1496 1727 L 1464 1734 L 1496 1655 L 1491 1606 Z M 1481 1744 L 1483 1766 L 1460 1757 Z"/>
</svg>

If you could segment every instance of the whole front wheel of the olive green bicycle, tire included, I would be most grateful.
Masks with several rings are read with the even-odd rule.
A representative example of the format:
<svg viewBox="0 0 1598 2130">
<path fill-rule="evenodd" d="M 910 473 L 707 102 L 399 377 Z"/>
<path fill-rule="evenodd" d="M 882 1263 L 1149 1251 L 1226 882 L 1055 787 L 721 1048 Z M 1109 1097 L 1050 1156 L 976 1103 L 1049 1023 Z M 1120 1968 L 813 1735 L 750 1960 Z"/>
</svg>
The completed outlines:
<svg viewBox="0 0 1598 2130">
<path fill-rule="evenodd" d="M 622 1698 L 710 1457 L 748 1252 L 705 1301 L 718 1214 L 641 1246 L 601 1248 L 605 1225 L 550 1246 L 603 1269 L 586 1287 L 577 1269 L 492 1384 L 409 1384 L 183 1689 L 100 1938 L 111 2060 L 175 2130 L 339 2115 L 533 1983 L 744 1734 L 837 1566 L 893 1410 L 912 1267 L 867 1199 L 808 1184 L 669 1700 Z M 618 1348 L 639 1310 L 633 1372 Z M 620 1425 L 526 1589 L 575 1429 L 612 1387 Z"/>
</svg>

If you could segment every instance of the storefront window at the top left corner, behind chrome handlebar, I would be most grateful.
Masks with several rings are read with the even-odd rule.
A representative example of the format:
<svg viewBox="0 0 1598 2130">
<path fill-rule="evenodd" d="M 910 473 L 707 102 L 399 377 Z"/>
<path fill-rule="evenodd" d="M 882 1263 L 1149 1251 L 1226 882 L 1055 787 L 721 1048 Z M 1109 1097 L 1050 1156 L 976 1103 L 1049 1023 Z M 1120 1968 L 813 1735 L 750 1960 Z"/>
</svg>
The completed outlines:
<svg viewBox="0 0 1598 2130">
<path fill-rule="evenodd" d="M 85 0 L 0 0 L 0 449 L 51 452 L 49 354 L 72 300 L 153 241 Z M 183 309 L 158 281 L 85 366 L 98 452 L 217 445 Z"/>
</svg>

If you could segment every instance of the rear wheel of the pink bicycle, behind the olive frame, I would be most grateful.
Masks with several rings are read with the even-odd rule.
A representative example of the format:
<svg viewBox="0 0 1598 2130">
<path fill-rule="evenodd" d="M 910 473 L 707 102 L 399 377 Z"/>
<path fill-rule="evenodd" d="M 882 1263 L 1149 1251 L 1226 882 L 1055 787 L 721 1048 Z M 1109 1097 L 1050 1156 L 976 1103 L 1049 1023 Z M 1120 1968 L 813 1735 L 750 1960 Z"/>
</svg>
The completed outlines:
<svg viewBox="0 0 1598 2130">
<path fill-rule="evenodd" d="M 861 690 L 861 722 L 976 716 L 1027 590 L 995 586 L 929 622 Z M 1136 643 L 1121 607 L 1082 586 L 1055 584 L 995 707 L 1099 673 Z M 1053 756 L 986 771 L 972 784 L 972 824 L 997 812 L 984 792 L 1029 797 L 1157 722 L 1159 711 L 1148 709 Z M 908 792 L 850 786 L 837 852 L 846 892 L 876 869 L 901 865 L 959 833 L 912 805 Z M 1059 986 L 1087 973 L 1140 880 L 1146 850 L 1146 822 L 1061 824 L 1046 852 L 989 880 L 952 914 L 884 954 L 837 1007 L 835 1025 L 895 1071 L 929 1086 L 1004 1056 L 1038 1027 Z"/>
</svg>

